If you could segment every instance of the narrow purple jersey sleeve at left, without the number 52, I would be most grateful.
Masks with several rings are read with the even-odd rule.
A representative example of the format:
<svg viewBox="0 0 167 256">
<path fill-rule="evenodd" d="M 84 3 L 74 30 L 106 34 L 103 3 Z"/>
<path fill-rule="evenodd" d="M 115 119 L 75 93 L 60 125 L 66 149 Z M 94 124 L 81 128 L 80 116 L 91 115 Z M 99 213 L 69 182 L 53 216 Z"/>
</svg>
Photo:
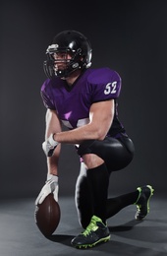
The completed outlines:
<svg viewBox="0 0 167 256">
<path fill-rule="evenodd" d="M 43 100 L 43 104 L 46 108 L 55 109 L 54 101 L 52 99 L 52 94 L 49 88 L 48 80 L 46 80 L 40 90 L 40 96 Z"/>
</svg>

